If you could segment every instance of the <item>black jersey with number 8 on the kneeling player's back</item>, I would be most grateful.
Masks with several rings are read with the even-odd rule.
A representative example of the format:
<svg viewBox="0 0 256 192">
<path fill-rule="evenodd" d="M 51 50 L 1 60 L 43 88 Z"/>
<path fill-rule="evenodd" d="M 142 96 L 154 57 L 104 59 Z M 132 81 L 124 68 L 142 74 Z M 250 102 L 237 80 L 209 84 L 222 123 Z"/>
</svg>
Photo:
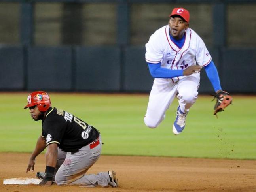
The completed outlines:
<svg viewBox="0 0 256 192">
<path fill-rule="evenodd" d="M 65 152 L 76 152 L 97 139 L 99 132 L 74 115 L 50 107 L 42 121 L 42 137 L 46 137 L 46 146 L 57 143 Z"/>
</svg>

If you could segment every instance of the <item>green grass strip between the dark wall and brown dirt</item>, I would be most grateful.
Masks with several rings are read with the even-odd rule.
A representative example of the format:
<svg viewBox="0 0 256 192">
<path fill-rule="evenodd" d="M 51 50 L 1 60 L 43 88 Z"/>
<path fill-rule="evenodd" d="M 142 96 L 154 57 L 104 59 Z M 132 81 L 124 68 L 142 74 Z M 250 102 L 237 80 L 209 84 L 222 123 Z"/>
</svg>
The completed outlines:
<svg viewBox="0 0 256 192">
<path fill-rule="evenodd" d="M 31 152 L 41 121 L 30 118 L 27 93 L 0 94 L 0 151 Z M 155 129 L 144 125 L 148 95 L 51 93 L 53 106 L 64 109 L 101 131 L 102 154 L 195 158 L 256 159 L 256 97 L 234 96 L 233 103 L 212 115 L 215 102 L 200 96 L 187 117 L 184 132 L 172 133 L 177 99 Z"/>
</svg>

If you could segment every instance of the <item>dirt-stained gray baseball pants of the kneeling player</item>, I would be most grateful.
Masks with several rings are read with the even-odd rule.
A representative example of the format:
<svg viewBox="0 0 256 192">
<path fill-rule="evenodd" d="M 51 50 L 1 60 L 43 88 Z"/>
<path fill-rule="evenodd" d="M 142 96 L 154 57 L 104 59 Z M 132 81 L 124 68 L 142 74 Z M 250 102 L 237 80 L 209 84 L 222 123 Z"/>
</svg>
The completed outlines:
<svg viewBox="0 0 256 192">
<path fill-rule="evenodd" d="M 57 185 L 83 185 L 94 187 L 108 186 L 110 182 L 108 172 L 100 172 L 96 175 L 85 175 L 88 169 L 99 159 L 101 155 L 101 136 L 99 145 L 90 149 L 86 145 L 76 153 L 64 152 L 58 148 L 58 159 L 55 171 Z"/>
</svg>

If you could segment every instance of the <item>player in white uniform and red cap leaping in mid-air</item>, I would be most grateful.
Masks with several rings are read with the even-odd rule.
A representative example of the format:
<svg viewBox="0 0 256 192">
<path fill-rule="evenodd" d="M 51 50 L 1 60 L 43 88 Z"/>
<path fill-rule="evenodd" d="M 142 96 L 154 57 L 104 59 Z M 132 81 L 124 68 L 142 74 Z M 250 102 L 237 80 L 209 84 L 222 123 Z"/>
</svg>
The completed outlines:
<svg viewBox="0 0 256 192">
<path fill-rule="evenodd" d="M 156 128 L 178 93 L 173 133 L 184 130 L 186 116 L 197 99 L 200 70 L 205 68 L 216 93 L 222 91 L 218 72 L 203 40 L 189 28 L 190 13 L 174 8 L 168 25 L 156 30 L 146 43 L 146 62 L 154 83 L 144 117 L 146 126 Z"/>
</svg>

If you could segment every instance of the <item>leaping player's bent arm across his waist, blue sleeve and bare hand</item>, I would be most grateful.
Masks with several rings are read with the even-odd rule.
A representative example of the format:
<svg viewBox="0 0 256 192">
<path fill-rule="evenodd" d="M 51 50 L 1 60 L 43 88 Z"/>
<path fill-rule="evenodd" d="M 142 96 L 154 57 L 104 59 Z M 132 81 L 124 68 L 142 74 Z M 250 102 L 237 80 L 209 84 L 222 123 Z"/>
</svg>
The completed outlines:
<svg viewBox="0 0 256 192">
<path fill-rule="evenodd" d="M 161 63 L 153 64 L 148 63 L 148 68 L 150 74 L 154 78 L 173 78 L 179 76 L 191 75 L 193 73 L 197 73 L 202 68 L 198 65 L 189 66 L 185 70 L 171 70 L 167 68 L 162 68 Z"/>
</svg>

